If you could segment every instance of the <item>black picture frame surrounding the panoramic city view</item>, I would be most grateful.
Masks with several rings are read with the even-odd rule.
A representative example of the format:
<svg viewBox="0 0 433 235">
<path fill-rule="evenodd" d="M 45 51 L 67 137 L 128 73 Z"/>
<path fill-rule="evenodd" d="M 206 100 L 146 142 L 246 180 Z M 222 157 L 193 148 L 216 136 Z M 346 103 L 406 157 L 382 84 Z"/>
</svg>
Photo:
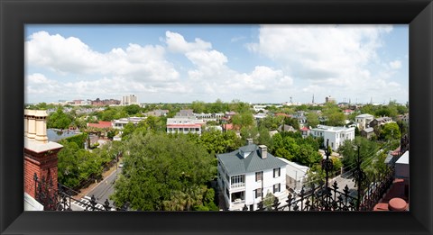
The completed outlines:
<svg viewBox="0 0 433 235">
<path fill-rule="evenodd" d="M 0 0 L 0 233 L 432 234 L 431 0 Z M 406 23 L 410 212 L 23 212 L 25 23 Z"/>
</svg>

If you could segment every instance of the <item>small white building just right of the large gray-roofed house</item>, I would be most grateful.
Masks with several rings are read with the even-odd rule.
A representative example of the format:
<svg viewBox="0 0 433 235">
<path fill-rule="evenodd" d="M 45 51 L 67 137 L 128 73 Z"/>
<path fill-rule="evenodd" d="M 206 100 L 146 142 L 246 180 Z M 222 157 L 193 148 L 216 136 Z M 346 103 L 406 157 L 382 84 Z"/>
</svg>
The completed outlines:
<svg viewBox="0 0 433 235">
<path fill-rule="evenodd" d="M 287 163 L 286 166 L 286 185 L 294 192 L 299 193 L 307 180 L 307 171 L 309 167 L 299 165 L 285 158 L 280 158 Z"/>
</svg>

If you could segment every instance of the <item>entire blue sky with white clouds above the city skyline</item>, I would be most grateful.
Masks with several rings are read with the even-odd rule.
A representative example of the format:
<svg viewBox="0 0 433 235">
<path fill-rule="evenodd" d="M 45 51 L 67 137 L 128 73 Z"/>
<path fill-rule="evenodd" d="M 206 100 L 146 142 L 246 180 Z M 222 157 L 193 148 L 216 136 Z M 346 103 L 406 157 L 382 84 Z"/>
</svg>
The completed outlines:
<svg viewBox="0 0 433 235">
<path fill-rule="evenodd" d="M 25 102 L 409 100 L 407 25 L 25 26 Z"/>
</svg>

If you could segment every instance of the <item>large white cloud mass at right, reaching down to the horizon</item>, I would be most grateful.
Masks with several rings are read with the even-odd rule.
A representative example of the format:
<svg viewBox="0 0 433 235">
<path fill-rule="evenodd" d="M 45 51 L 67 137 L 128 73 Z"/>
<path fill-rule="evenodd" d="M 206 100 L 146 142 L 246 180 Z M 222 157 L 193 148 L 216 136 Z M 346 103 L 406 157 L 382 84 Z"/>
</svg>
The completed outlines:
<svg viewBox="0 0 433 235">
<path fill-rule="evenodd" d="M 390 32 L 389 25 L 262 25 L 258 42 L 245 47 L 296 79 L 299 89 L 293 95 L 298 97 L 316 94 L 322 102 L 326 95 L 338 95 L 339 102 L 350 96 L 355 101 L 372 90 L 375 94 L 370 95 L 377 97 L 380 89 L 390 87 L 395 97 L 407 94 L 390 80 L 401 61 L 382 65 L 378 55 L 383 36 Z"/>
</svg>

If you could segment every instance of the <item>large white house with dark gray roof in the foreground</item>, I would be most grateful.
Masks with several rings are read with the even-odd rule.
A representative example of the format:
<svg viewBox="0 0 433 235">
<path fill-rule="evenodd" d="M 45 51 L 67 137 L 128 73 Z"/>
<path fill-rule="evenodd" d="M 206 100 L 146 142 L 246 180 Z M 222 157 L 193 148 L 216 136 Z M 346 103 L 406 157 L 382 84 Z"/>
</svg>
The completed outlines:
<svg viewBox="0 0 433 235">
<path fill-rule="evenodd" d="M 275 158 L 265 145 L 248 144 L 230 153 L 217 154 L 218 186 L 229 211 L 255 211 L 266 194 L 287 200 L 287 163 Z"/>
</svg>

